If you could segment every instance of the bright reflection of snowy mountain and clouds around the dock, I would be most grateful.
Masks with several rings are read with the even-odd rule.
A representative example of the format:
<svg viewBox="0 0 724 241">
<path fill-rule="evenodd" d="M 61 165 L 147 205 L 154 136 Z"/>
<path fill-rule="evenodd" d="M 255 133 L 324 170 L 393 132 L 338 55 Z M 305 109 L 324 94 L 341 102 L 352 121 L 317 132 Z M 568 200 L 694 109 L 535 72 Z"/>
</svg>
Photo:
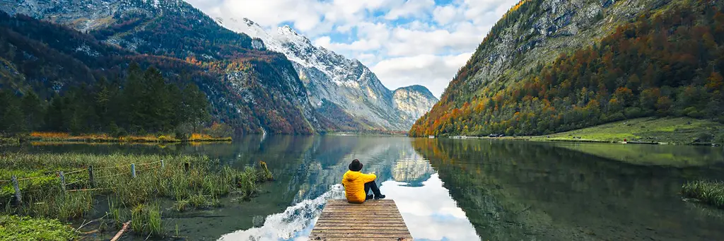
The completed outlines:
<svg viewBox="0 0 724 241">
<path fill-rule="evenodd" d="M 293 206 L 267 217 L 264 226 L 225 234 L 220 240 L 307 240 L 329 198 L 343 198 L 339 185 L 349 161 L 375 172 L 380 189 L 400 207 L 416 240 L 476 240 L 473 225 L 456 206 L 442 180 L 408 138 L 327 137 L 304 155 L 306 177 Z M 374 217 L 370 217 L 374 219 Z"/>
</svg>

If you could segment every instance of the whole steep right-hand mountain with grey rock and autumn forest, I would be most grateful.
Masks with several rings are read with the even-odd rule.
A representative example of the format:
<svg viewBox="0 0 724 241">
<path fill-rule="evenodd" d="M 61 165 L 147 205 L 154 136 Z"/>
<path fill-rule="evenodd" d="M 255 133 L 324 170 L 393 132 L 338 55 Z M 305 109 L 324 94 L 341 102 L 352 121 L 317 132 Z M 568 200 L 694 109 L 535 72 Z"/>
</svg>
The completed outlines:
<svg viewBox="0 0 724 241">
<path fill-rule="evenodd" d="M 410 133 L 542 135 L 636 117 L 724 122 L 723 9 L 708 0 L 521 1 Z"/>
</svg>

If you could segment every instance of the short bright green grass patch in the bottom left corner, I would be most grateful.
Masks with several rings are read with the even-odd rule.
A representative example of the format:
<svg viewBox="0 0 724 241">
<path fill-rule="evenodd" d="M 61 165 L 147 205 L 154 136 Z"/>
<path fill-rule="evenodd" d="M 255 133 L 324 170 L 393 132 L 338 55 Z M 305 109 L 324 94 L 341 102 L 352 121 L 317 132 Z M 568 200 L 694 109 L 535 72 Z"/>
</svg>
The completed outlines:
<svg viewBox="0 0 724 241">
<path fill-rule="evenodd" d="M 76 237 L 75 229 L 58 220 L 0 215 L 0 241 L 67 241 Z"/>
</svg>

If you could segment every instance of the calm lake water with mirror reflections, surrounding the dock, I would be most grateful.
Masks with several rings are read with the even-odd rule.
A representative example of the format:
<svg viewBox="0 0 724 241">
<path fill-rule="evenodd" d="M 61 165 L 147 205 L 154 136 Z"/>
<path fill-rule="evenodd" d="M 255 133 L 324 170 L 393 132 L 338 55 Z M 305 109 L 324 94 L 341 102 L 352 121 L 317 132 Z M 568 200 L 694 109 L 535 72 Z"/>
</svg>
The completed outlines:
<svg viewBox="0 0 724 241">
<path fill-rule="evenodd" d="M 628 146 L 283 136 L 211 145 L 24 148 L 199 153 L 224 165 L 269 164 L 277 181 L 250 202 L 222 200 L 224 208 L 164 220 L 167 230 L 178 227 L 189 240 L 307 240 L 325 200 L 343 197 L 340 178 L 353 158 L 363 162 L 363 172 L 376 172 L 416 240 L 724 240 L 723 211 L 678 195 L 686 180 L 724 179 L 722 148 Z M 623 161 L 606 155 L 626 152 L 639 154 Z M 651 165 L 648 156 L 676 164 Z"/>
</svg>

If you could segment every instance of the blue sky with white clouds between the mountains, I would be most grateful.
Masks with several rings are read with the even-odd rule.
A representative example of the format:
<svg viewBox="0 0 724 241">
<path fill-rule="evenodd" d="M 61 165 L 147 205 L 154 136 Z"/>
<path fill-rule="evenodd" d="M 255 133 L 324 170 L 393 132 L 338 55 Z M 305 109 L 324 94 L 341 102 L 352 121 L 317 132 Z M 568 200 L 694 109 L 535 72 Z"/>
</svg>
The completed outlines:
<svg viewBox="0 0 724 241">
<path fill-rule="evenodd" d="M 438 98 L 492 25 L 518 0 L 187 0 L 211 17 L 289 25 L 316 46 L 358 59 L 395 90 Z M 273 32 L 272 32 L 273 33 Z"/>
</svg>

